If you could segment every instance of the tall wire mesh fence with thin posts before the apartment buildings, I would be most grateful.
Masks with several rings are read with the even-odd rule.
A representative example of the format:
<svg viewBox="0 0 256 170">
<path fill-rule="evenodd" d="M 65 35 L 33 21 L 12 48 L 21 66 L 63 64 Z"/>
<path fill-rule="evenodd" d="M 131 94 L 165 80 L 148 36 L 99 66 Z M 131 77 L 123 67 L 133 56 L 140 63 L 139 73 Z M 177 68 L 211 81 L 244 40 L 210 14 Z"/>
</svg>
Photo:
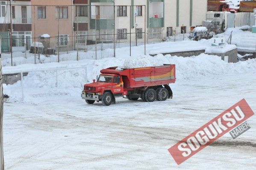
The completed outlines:
<svg viewBox="0 0 256 170">
<path fill-rule="evenodd" d="M 166 33 L 164 14 L 147 14 L 146 5 L 13 6 L 12 10 L 21 8 L 26 15 L 9 16 L 13 23 L 4 23 L 12 28 L 3 28 L 0 34 L 4 66 L 110 58 L 122 47 L 130 48 L 127 55 L 131 55 L 133 46 L 141 46 L 146 54 L 146 44 L 188 37 L 172 29 Z"/>
</svg>

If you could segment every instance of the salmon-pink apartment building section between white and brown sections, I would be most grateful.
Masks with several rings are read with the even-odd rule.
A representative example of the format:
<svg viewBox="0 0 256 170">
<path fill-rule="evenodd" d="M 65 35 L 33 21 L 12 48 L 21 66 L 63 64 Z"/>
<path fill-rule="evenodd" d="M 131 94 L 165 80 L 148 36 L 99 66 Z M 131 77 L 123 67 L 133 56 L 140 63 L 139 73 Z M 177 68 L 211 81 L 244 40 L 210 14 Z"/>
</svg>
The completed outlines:
<svg viewBox="0 0 256 170">
<path fill-rule="evenodd" d="M 37 37 L 33 41 L 39 41 L 42 35 L 50 35 L 53 43 L 55 40 L 59 42 L 60 51 L 67 47 L 72 50 L 73 45 L 69 42 L 73 35 L 73 1 L 31 0 L 31 5 L 32 36 Z"/>
</svg>

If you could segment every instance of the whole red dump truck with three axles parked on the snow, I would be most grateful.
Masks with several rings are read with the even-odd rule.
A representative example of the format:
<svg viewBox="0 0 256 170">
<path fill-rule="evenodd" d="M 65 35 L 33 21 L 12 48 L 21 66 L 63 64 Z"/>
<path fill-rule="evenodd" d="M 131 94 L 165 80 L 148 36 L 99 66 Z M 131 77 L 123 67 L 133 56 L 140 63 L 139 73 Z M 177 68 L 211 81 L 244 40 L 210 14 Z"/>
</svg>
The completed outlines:
<svg viewBox="0 0 256 170">
<path fill-rule="evenodd" d="M 133 69 L 110 67 L 100 71 L 97 81 L 85 84 L 82 99 L 87 104 L 102 101 L 109 106 L 116 97 L 126 96 L 136 101 L 141 98 L 146 102 L 165 101 L 172 98 L 173 92 L 168 84 L 175 83 L 175 65 L 164 64 Z"/>
</svg>

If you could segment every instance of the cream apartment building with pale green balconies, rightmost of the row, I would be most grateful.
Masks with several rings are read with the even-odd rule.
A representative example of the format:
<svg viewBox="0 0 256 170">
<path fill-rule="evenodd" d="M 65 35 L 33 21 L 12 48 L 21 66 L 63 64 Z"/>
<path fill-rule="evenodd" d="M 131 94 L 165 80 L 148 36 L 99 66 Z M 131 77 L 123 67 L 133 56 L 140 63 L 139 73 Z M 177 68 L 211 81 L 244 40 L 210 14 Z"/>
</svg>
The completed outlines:
<svg viewBox="0 0 256 170">
<path fill-rule="evenodd" d="M 113 32 L 117 40 L 129 39 L 130 32 L 142 39 L 146 32 L 147 41 L 189 33 L 202 25 L 207 12 L 207 0 L 90 0 L 90 6 L 89 35 L 103 41 L 113 40 L 103 35 Z"/>
</svg>

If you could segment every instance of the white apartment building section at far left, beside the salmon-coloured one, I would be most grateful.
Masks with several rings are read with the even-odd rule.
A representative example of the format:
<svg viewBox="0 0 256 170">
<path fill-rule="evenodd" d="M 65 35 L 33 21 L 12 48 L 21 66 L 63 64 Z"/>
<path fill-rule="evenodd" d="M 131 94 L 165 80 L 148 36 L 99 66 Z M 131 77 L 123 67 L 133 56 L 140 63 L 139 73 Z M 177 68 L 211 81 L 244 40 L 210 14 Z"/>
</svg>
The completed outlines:
<svg viewBox="0 0 256 170">
<path fill-rule="evenodd" d="M 30 0 L 0 1 L 0 37 L 2 52 L 10 51 L 10 20 L 12 17 L 12 51 L 25 51 L 29 48 L 32 37 L 31 2 Z"/>
</svg>

